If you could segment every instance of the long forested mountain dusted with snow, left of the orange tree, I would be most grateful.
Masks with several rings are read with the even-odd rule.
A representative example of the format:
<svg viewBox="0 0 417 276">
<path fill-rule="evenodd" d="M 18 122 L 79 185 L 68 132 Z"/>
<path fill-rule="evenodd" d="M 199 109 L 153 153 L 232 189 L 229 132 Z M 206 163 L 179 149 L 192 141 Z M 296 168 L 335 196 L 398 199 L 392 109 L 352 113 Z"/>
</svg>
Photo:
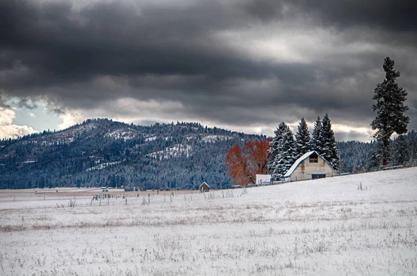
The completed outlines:
<svg viewBox="0 0 417 276">
<path fill-rule="evenodd" d="M 224 155 L 247 135 L 199 123 L 136 126 L 89 119 L 59 132 L 0 141 L 0 188 L 230 187 Z"/>
</svg>

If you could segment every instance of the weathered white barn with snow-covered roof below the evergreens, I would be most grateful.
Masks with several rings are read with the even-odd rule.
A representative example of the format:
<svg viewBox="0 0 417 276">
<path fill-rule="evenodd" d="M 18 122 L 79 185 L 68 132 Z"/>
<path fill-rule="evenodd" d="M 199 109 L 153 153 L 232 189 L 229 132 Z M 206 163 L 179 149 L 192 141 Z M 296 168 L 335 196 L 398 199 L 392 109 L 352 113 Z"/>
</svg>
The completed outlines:
<svg viewBox="0 0 417 276">
<path fill-rule="evenodd" d="M 313 150 L 298 158 L 286 172 L 284 178 L 288 181 L 297 181 L 329 178 L 335 175 L 338 173 L 330 166 L 329 162 Z"/>
</svg>

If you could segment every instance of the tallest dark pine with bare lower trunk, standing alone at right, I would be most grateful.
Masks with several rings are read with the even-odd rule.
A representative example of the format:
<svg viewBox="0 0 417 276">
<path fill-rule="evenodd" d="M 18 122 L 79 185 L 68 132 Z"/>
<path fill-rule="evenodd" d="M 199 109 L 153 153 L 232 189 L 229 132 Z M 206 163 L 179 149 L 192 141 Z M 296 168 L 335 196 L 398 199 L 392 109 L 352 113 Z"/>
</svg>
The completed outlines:
<svg viewBox="0 0 417 276">
<path fill-rule="evenodd" d="M 409 110 L 404 101 L 407 99 L 407 92 L 395 83 L 395 78 L 400 76 L 400 71 L 394 70 L 394 61 L 389 57 L 384 60 L 385 79 L 375 88 L 373 100 L 373 111 L 377 112 L 375 120 L 370 126 L 377 132 L 373 137 L 382 141 L 382 166 L 386 166 L 389 153 L 389 139 L 393 132 L 399 135 L 407 132 L 407 125 L 410 121 L 404 112 Z"/>
</svg>

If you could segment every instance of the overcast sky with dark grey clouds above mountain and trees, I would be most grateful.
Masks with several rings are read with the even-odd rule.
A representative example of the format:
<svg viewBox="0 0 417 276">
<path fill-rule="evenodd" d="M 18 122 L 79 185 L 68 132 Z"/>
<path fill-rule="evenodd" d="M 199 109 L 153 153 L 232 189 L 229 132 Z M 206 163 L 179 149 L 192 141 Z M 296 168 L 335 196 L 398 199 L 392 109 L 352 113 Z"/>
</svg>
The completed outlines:
<svg viewBox="0 0 417 276">
<path fill-rule="evenodd" d="M 1 0 L 0 138 L 91 117 L 273 135 L 327 112 L 336 139 L 369 141 L 386 56 L 417 128 L 416 15 L 412 0 Z"/>
</svg>

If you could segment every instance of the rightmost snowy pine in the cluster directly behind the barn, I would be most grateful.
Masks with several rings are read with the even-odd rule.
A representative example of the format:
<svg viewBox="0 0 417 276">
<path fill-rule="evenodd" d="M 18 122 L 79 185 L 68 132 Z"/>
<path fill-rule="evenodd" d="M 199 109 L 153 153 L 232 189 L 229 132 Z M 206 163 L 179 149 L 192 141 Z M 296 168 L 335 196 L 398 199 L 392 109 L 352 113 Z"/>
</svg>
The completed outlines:
<svg viewBox="0 0 417 276">
<path fill-rule="evenodd" d="M 332 130 L 332 122 L 329 119 L 329 115 L 326 113 L 322 121 L 322 148 L 320 155 L 324 157 L 330 166 L 336 171 L 340 166 L 340 157 L 336 148 L 336 139 L 334 138 L 334 132 Z"/>
</svg>

